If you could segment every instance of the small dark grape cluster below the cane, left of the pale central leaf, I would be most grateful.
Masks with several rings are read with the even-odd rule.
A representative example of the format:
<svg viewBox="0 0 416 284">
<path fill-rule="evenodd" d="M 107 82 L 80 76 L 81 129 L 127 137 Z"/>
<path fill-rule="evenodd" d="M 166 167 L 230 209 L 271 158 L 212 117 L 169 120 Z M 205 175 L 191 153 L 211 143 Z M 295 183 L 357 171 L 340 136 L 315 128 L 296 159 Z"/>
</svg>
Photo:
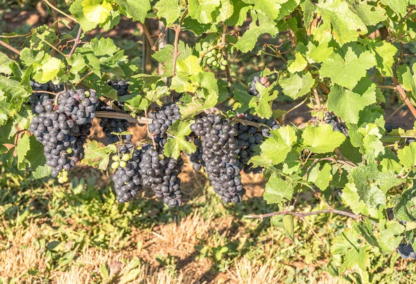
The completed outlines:
<svg viewBox="0 0 416 284">
<path fill-rule="evenodd" d="M 176 103 L 166 103 L 151 112 L 149 118 L 152 119 L 152 123 L 148 125 L 149 132 L 155 135 L 156 142 L 163 147 L 166 143 L 166 131 L 180 119 L 179 106 Z"/>
</svg>

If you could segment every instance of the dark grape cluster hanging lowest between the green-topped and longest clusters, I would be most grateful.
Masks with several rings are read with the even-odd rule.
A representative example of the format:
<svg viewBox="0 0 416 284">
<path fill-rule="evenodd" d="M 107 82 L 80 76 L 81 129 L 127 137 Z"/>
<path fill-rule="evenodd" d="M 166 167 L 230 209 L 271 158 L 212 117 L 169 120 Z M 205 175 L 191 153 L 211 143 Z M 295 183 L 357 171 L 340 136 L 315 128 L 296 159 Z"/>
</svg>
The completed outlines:
<svg viewBox="0 0 416 284">
<path fill-rule="evenodd" d="M 151 188 L 169 206 L 180 206 L 182 192 L 178 175 L 183 163 L 182 158 L 165 157 L 162 147 L 155 150 L 152 145 L 145 145 L 139 163 L 142 185 Z"/>
</svg>

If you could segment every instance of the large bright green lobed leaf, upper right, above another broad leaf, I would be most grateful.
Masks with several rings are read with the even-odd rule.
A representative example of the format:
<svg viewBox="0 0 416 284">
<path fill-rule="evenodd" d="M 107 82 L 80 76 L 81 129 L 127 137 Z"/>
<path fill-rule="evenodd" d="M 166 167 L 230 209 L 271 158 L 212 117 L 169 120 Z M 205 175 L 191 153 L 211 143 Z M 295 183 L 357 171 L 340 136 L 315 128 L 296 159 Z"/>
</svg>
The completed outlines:
<svg viewBox="0 0 416 284">
<path fill-rule="evenodd" d="M 332 82 L 350 90 L 353 89 L 367 74 L 367 69 L 376 64 L 374 55 L 370 51 L 364 51 L 359 55 L 358 51 L 358 48 L 348 46 L 344 57 L 332 53 L 322 62 L 321 76 L 331 78 Z"/>
</svg>

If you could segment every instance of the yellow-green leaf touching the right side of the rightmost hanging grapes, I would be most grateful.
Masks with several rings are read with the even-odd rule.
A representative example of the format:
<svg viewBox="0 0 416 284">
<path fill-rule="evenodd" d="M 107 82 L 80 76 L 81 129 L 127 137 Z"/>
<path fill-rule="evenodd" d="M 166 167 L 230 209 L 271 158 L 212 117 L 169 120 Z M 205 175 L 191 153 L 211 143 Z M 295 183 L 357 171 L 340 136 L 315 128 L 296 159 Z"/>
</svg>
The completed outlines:
<svg viewBox="0 0 416 284">
<path fill-rule="evenodd" d="M 290 126 L 272 130 L 270 134 L 271 136 L 260 146 L 260 156 L 250 159 L 250 162 L 256 166 L 268 167 L 283 162 L 297 141 L 295 130 Z"/>
</svg>

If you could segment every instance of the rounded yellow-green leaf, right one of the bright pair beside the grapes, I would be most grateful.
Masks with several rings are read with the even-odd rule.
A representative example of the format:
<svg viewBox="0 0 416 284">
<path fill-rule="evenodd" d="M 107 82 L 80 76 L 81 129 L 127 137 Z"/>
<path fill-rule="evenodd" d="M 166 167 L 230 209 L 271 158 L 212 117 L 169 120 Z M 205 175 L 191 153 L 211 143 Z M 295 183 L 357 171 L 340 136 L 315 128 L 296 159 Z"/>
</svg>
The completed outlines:
<svg viewBox="0 0 416 284">
<path fill-rule="evenodd" d="M 331 139 L 327 139 L 331 137 Z M 340 132 L 334 132 L 332 125 L 325 124 L 318 127 L 308 126 L 302 133 L 304 148 L 311 150 L 313 153 L 323 154 L 333 152 L 345 140 L 345 135 Z"/>
</svg>

